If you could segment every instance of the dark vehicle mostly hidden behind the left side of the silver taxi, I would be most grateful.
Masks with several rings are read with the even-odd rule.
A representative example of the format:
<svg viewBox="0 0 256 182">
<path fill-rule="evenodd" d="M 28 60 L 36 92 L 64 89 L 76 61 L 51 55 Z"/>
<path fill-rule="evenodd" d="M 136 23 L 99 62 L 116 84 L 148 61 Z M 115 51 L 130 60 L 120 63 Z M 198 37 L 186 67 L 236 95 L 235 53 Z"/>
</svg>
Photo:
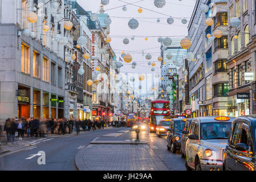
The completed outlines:
<svg viewBox="0 0 256 182">
<path fill-rule="evenodd" d="M 180 142 L 180 154 L 182 158 L 186 156 L 186 140 L 188 140 L 189 127 L 193 118 L 183 119 L 185 121 L 184 129 L 182 130 L 181 142 Z"/>
</svg>

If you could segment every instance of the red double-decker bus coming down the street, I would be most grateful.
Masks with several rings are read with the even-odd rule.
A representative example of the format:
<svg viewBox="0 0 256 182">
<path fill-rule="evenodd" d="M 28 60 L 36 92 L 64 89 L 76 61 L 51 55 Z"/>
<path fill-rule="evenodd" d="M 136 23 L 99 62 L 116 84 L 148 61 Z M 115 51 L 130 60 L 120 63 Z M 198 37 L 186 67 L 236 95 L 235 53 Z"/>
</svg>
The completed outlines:
<svg viewBox="0 0 256 182">
<path fill-rule="evenodd" d="M 163 119 L 170 118 L 169 101 L 156 100 L 151 102 L 150 132 L 156 132 L 156 126 Z"/>
</svg>

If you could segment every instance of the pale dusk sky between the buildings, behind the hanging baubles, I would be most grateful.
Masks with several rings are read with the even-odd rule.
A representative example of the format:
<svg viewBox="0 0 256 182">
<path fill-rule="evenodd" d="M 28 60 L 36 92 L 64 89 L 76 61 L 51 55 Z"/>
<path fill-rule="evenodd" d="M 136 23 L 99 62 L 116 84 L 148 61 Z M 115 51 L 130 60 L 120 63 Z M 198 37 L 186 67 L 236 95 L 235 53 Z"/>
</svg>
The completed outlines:
<svg viewBox="0 0 256 182">
<path fill-rule="evenodd" d="M 77 0 L 77 2 L 84 10 L 99 13 L 101 0 Z M 128 3 L 133 3 L 136 6 L 127 5 Z M 112 39 L 110 44 L 116 53 L 117 61 L 121 52 L 124 51 L 132 55 L 132 62 L 137 63 L 136 68 L 132 69 L 132 62 L 124 62 L 120 72 L 160 73 L 160 61 L 157 60 L 157 57 L 161 53 L 161 44 L 157 42 L 157 39 L 160 36 L 172 39 L 187 36 L 188 23 L 195 3 L 196 0 L 166 0 L 164 7 L 157 8 L 154 5 L 154 0 L 109 0 L 109 4 L 104 6 L 104 10 L 112 20 L 109 36 Z M 127 11 L 123 11 L 124 5 L 126 5 Z M 140 7 L 143 9 L 142 13 L 138 12 Z M 166 19 L 169 16 L 174 18 L 173 24 L 167 23 Z M 128 21 L 131 18 L 139 21 L 139 27 L 136 30 L 128 27 Z M 159 23 L 157 23 L 157 18 L 160 18 Z M 188 20 L 188 23 L 181 23 L 184 18 Z M 135 36 L 135 40 L 131 40 L 132 36 Z M 146 37 L 148 38 L 147 41 L 145 40 Z M 123 43 L 124 38 L 129 39 L 129 44 Z M 144 56 L 142 51 L 144 51 Z M 151 60 L 145 59 L 147 53 L 151 53 Z M 148 61 L 155 62 L 156 66 L 149 66 Z M 155 72 L 152 72 L 151 68 L 155 68 Z"/>
</svg>

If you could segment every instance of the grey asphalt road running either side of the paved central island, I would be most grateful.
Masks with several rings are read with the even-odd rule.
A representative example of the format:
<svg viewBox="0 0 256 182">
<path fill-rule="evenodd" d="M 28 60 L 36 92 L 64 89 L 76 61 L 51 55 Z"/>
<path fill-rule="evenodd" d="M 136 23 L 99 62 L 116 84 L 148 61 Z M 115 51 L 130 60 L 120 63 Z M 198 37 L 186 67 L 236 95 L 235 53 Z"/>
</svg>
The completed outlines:
<svg viewBox="0 0 256 182">
<path fill-rule="evenodd" d="M 103 135 L 126 129 L 113 128 L 47 140 L 25 150 L 0 157 L 0 170 L 77 170 L 74 159 L 81 148 L 86 147 L 92 140 L 134 140 L 135 131 L 124 133 L 119 137 L 103 137 Z M 157 137 L 155 133 L 149 133 L 148 128 L 147 131 L 141 131 L 140 140 L 147 140 L 149 146 L 169 170 L 185 170 L 184 159 L 181 158 L 180 153 L 172 154 L 166 150 L 166 137 Z M 38 165 L 38 156 L 32 157 L 38 151 L 46 153 L 46 165 Z M 26 159 L 30 157 L 32 158 Z"/>
</svg>

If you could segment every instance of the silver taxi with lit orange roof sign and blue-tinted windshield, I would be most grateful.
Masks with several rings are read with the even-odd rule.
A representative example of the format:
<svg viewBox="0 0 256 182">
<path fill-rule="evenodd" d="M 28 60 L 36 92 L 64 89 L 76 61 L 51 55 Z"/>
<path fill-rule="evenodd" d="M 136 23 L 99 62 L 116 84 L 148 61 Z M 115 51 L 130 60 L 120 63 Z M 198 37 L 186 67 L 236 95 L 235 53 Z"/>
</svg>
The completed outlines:
<svg viewBox="0 0 256 182">
<path fill-rule="evenodd" d="M 185 167 L 196 171 L 221 171 L 231 130 L 231 117 L 198 117 L 190 124 Z"/>
</svg>

